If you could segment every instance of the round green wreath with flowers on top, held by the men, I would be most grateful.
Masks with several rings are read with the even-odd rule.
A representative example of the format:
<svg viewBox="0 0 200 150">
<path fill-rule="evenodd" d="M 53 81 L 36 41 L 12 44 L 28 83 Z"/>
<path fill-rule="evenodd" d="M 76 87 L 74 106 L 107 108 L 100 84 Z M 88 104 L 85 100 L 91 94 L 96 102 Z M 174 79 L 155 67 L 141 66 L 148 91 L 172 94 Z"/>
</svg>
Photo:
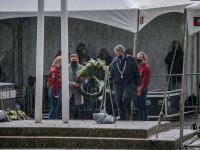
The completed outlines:
<svg viewBox="0 0 200 150">
<path fill-rule="evenodd" d="M 100 84 L 98 80 L 104 80 L 106 68 L 105 61 L 100 60 L 99 58 L 96 61 L 91 59 L 91 61 L 88 61 L 88 63 L 85 64 L 85 67 L 76 73 L 76 83 L 81 84 L 81 77 L 87 79 L 94 77 L 98 83 L 97 86 L 99 87 L 99 91 L 97 93 L 87 93 L 81 88 L 81 86 L 77 87 L 77 90 L 83 96 L 97 98 L 103 94 L 103 85 Z"/>
</svg>

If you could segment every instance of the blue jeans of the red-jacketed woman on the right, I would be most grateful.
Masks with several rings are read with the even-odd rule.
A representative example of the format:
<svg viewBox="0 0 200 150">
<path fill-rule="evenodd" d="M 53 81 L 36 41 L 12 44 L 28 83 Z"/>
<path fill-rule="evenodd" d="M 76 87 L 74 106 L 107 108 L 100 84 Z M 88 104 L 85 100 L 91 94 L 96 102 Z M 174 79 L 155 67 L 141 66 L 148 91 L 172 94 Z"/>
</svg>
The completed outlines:
<svg viewBox="0 0 200 150">
<path fill-rule="evenodd" d="M 141 93 L 141 96 L 137 96 L 137 107 L 138 107 L 138 120 L 147 121 L 148 109 L 146 105 L 148 87 Z"/>
</svg>

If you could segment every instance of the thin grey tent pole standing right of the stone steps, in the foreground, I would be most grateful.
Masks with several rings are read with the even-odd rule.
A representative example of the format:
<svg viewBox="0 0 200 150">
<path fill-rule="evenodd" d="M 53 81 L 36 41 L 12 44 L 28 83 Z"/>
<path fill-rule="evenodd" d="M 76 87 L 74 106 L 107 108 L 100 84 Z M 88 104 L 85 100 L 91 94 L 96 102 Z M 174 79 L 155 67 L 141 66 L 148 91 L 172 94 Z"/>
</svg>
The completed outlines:
<svg viewBox="0 0 200 150">
<path fill-rule="evenodd" d="M 185 85 L 187 82 L 186 68 L 187 68 L 187 52 L 188 52 L 188 26 L 185 12 L 185 33 L 184 33 L 184 60 L 183 60 L 183 77 L 182 77 L 182 96 L 181 96 L 181 116 L 180 116 L 180 148 L 183 147 L 183 127 L 184 127 L 184 105 L 185 105 Z"/>
</svg>

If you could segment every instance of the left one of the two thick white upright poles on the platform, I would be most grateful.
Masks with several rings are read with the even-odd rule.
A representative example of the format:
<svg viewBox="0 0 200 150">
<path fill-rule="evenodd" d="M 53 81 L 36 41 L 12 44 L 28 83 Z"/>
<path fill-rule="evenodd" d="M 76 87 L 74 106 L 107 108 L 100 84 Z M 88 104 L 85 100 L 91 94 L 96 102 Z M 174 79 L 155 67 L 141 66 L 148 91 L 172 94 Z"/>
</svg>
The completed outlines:
<svg viewBox="0 0 200 150">
<path fill-rule="evenodd" d="M 43 64 L 44 64 L 44 0 L 38 0 L 35 122 L 41 122 L 42 120 Z"/>
</svg>

